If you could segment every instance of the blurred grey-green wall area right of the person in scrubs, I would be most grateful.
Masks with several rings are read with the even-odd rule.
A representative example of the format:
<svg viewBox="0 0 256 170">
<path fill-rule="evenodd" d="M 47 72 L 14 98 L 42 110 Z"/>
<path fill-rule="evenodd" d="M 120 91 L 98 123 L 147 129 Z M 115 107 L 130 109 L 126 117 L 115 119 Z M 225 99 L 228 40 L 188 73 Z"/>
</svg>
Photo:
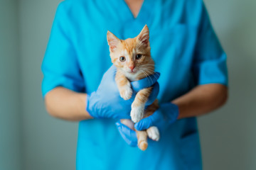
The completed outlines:
<svg viewBox="0 0 256 170">
<path fill-rule="evenodd" d="M 228 55 L 226 106 L 199 118 L 205 169 L 256 169 L 256 1 L 206 0 Z"/>
</svg>

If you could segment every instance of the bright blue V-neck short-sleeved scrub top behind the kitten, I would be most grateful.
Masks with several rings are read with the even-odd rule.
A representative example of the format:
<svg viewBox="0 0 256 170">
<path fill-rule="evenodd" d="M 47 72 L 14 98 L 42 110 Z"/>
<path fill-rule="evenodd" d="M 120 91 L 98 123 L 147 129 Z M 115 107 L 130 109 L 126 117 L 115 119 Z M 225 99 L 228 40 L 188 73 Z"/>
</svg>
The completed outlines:
<svg viewBox="0 0 256 170">
<path fill-rule="evenodd" d="M 122 0 L 60 3 L 43 60 L 43 96 L 56 86 L 91 93 L 111 66 L 107 30 L 133 38 L 147 24 L 159 79 L 159 101 L 169 102 L 200 84 L 228 84 L 226 55 L 201 0 L 144 0 L 137 18 Z M 77 169 L 201 169 L 196 118 L 176 121 L 149 141 L 129 147 L 116 120 L 84 120 L 78 132 Z"/>
</svg>

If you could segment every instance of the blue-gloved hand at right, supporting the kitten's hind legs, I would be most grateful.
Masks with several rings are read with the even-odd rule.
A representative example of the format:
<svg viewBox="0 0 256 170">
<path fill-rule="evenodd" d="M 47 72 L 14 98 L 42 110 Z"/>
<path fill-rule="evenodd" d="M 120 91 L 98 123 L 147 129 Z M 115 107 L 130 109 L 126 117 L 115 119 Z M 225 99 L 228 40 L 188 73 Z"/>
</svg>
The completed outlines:
<svg viewBox="0 0 256 170">
<path fill-rule="evenodd" d="M 159 106 L 159 109 L 153 113 L 153 115 L 140 120 L 134 125 L 134 128 L 137 130 L 146 130 L 151 126 L 156 126 L 159 128 L 161 135 L 161 132 L 163 132 L 169 127 L 169 125 L 177 120 L 178 113 L 178 106 L 176 106 L 174 103 L 163 103 Z M 124 141 L 127 142 L 128 145 L 136 147 L 136 132 L 122 124 L 120 121 L 118 121 L 116 125 Z"/>
</svg>

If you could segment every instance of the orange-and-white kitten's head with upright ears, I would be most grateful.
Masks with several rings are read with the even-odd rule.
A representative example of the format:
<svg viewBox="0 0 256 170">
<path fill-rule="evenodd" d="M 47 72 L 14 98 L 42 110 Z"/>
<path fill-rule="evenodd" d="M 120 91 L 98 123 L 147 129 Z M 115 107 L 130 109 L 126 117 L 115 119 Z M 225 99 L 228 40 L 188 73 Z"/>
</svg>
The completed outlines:
<svg viewBox="0 0 256 170">
<path fill-rule="evenodd" d="M 154 61 L 150 55 L 149 28 L 144 26 L 136 38 L 119 40 L 114 34 L 107 32 L 112 63 L 128 76 L 154 73 Z M 146 75 L 145 75 L 146 74 Z"/>
</svg>

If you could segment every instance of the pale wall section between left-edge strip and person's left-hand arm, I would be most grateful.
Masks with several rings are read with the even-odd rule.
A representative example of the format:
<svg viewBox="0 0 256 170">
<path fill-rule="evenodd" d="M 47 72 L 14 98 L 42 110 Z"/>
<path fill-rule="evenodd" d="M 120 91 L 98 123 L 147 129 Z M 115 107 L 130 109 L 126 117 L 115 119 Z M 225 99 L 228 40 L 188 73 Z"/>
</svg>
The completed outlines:
<svg viewBox="0 0 256 170">
<path fill-rule="evenodd" d="M 23 169 L 75 169 L 78 124 L 51 118 L 41 95 L 41 62 L 60 0 L 20 0 Z"/>
</svg>

